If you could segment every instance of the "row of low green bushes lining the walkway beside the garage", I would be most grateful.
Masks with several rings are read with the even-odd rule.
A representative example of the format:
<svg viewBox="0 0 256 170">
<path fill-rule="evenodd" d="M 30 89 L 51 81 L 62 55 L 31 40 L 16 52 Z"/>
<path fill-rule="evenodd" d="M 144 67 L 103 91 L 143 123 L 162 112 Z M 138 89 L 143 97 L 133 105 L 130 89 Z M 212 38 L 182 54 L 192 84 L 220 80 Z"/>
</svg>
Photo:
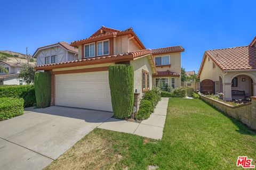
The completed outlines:
<svg viewBox="0 0 256 170">
<path fill-rule="evenodd" d="M 158 101 L 161 100 L 161 91 L 158 88 L 144 92 L 140 101 L 140 109 L 135 118 L 138 120 L 147 119 L 154 112 Z"/>
</svg>

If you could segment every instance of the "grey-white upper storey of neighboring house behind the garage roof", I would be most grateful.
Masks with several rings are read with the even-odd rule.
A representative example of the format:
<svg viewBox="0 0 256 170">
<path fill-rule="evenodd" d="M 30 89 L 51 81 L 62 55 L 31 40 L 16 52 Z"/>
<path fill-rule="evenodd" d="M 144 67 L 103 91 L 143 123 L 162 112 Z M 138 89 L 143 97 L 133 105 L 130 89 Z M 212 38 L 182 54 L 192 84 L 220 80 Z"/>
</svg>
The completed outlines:
<svg viewBox="0 0 256 170">
<path fill-rule="evenodd" d="M 37 59 L 36 65 L 61 63 L 77 60 L 78 49 L 62 41 L 37 48 L 33 57 Z"/>
</svg>

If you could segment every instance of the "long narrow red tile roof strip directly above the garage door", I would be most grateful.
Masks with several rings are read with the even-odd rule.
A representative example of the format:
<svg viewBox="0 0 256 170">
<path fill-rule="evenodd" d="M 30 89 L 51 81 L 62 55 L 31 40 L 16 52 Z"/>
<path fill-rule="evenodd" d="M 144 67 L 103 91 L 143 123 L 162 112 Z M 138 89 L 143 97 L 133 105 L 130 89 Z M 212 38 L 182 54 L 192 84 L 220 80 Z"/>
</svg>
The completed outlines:
<svg viewBox="0 0 256 170">
<path fill-rule="evenodd" d="M 92 58 L 83 58 L 81 60 L 75 60 L 75 61 L 67 61 L 67 62 L 61 62 L 61 63 L 37 65 L 35 67 L 35 69 L 39 70 L 41 67 L 45 67 L 45 66 L 54 66 L 54 65 L 79 63 L 79 62 L 83 63 L 83 62 L 88 62 L 88 61 L 104 60 L 104 59 L 107 59 L 107 58 L 121 57 L 120 59 L 122 59 L 122 57 L 125 57 L 125 56 L 131 56 L 132 58 L 136 58 L 136 57 L 140 57 L 140 56 L 147 55 L 147 54 L 151 54 L 150 49 L 142 49 L 142 50 L 138 50 L 138 51 L 134 51 L 134 52 L 130 52 L 130 53 L 118 54 L 118 55 L 99 56 L 99 57 L 92 57 Z"/>
</svg>

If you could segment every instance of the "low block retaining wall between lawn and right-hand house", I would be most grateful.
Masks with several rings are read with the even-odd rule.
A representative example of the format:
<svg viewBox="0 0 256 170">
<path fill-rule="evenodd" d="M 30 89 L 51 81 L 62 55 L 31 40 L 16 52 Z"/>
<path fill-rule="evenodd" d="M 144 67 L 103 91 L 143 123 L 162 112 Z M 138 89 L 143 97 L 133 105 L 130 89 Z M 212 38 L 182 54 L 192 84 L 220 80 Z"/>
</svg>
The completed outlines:
<svg viewBox="0 0 256 170">
<path fill-rule="evenodd" d="M 240 106 L 232 106 L 203 95 L 200 95 L 200 98 L 206 101 L 206 103 L 211 104 L 220 111 L 236 118 L 250 128 L 256 130 L 256 97 L 251 97 L 252 101 L 250 103 L 245 103 L 244 105 Z"/>
</svg>

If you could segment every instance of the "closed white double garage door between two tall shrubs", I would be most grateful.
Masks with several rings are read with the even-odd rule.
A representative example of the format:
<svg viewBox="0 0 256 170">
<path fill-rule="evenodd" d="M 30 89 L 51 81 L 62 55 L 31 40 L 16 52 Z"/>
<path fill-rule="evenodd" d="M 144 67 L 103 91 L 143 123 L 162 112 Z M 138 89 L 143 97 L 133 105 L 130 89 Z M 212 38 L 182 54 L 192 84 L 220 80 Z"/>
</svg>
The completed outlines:
<svg viewBox="0 0 256 170">
<path fill-rule="evenodd" d="M 112 112 L 108 71 L 55 75 L 55 105 Z"/>
</svg>

